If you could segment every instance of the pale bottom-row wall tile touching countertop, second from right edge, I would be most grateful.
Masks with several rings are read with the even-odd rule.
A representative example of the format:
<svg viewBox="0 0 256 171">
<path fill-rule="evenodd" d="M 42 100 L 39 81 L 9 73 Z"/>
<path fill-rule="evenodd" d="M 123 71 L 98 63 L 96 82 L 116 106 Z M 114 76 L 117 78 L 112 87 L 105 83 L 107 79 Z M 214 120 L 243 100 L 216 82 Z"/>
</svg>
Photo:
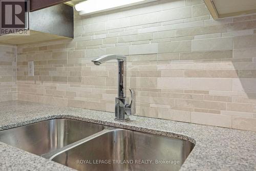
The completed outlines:
<svg viewBox="0 0 256 171">
<path fill-rule="evenodd" d="M 191 122 L 212 126 L 232 127 L 232 117 L 219 114 L 191 112 Z"/>
</svg>

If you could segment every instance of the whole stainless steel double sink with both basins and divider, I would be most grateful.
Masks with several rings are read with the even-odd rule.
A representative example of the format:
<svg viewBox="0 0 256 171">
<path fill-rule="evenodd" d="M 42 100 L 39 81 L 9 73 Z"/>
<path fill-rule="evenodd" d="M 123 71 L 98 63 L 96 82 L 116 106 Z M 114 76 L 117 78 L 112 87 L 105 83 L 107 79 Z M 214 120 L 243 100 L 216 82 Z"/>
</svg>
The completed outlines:
<svg viewBox="0 0 256 171">
<path fill-rule="evenodd" d="M 72 119 L 0 132 L 0 141 L 77 170 L 179 170 L 194 144 Z"/>
</svg>

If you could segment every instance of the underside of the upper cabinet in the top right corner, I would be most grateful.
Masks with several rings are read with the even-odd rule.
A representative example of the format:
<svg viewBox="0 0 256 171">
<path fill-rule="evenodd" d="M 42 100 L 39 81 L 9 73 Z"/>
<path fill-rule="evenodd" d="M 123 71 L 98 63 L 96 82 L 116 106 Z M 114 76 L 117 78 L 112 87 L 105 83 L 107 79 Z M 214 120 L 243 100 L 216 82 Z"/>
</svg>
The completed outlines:
<svg viewBox="0 0 256 171">
<path fill-rule="evenodd" d="M 255 0 L 204 0 L 214 19 L 256 12 Z"/>
</svg>

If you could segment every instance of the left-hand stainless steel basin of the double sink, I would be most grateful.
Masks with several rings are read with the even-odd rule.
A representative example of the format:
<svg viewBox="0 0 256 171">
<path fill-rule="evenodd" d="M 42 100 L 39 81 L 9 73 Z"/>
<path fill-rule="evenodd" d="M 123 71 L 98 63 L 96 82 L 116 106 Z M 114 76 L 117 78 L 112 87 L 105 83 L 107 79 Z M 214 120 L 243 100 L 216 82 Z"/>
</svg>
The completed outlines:
<svg viewBox="0 0 256 171">
<path fill-rule="evenodd" d="M 51 119 L 0 131 L 0 141 L 43 155 L 89 137 L 104 126 L 72 119 Z"/>
</svg>

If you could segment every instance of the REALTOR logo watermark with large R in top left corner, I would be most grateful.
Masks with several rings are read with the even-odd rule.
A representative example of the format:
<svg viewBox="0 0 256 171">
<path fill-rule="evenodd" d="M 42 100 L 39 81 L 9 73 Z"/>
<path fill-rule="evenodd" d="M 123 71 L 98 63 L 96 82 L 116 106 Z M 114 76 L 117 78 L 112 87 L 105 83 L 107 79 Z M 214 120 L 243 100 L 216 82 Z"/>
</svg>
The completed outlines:
<svg viewBox="0 0 256 171">
<path fill-rule="evenodd" d="M 29 35 L 29 0 L 0 0 L 1 35 Z"/>
</svg>

